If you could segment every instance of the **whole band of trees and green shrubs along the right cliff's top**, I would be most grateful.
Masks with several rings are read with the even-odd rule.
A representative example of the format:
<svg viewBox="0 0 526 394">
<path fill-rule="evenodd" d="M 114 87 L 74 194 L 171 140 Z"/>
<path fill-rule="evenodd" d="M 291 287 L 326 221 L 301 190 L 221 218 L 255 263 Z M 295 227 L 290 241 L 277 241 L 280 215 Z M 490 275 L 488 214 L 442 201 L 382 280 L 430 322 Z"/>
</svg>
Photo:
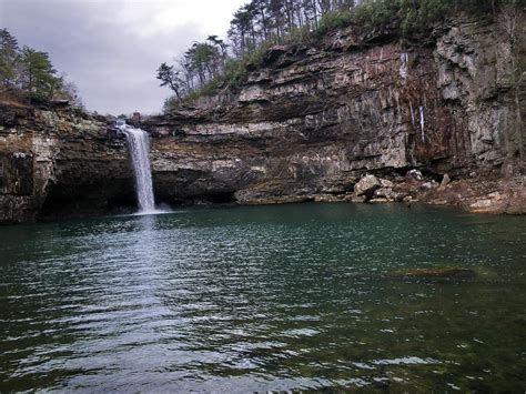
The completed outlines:
<svg viewBox="0 0 526 394">
<path fill-rule="evenodd" d="M 493 17 L 502 7 L 525 4 L 526 0 L 251 0 L 234 13 L 227 43 L 211 36 L 195 42 L 176 64 L 161 64 L 158 79 L 174 92 L 164 108 L 170 111 L 219 89 L 235 91 L 275 44 L 313 46 L 346 27 L 361 38 L 386 29 L 422 39 L 459 12 Z"/>
</svg>

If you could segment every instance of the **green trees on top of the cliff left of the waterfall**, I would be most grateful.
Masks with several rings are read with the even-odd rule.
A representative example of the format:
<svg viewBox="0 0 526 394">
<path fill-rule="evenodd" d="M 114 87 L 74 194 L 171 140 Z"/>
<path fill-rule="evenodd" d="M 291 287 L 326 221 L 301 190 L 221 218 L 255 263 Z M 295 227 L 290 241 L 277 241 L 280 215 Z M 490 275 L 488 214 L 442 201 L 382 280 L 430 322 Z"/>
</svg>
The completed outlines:
<svg viewBox="0 0 526 394">
<path fill-rule="evenodd" d="M 57 74 L 49 54 L 27 46 L 20 49 L 7 29 L 0 29 L 0 93 L 37 102 L 68 100 L 82 107 L 77 87 Z"/>
</svg>

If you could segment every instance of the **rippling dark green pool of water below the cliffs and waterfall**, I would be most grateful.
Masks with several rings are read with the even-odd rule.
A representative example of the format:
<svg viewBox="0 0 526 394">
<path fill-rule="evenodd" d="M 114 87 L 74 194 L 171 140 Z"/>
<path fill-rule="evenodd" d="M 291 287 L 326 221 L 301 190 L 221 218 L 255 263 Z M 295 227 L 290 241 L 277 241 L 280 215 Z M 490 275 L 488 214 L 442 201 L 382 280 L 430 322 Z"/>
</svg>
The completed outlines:
<svg viewBox="0 0 526 394">
<path fill-rule="evenodd" d="M 467 280 L 392 277 L 458 266 Z M 0 228 L 0 391 L 526 390 L 526 218 L 405 205 Z"/>
</svg>

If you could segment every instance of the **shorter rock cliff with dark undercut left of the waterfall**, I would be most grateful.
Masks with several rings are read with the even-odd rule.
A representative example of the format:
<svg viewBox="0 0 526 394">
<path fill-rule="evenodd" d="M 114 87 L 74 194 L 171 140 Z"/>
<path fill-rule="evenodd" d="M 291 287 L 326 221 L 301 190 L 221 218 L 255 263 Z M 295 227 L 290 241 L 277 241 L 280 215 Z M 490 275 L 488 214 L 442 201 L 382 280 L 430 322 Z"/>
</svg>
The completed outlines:
<svg viewBox="0 0 526 394">
<path fill-rule="evenodd" d="M 71 109 L 0 103 L 0 223 L 103 212 L 133 201 L 123 140 Z"/>
</svg>

